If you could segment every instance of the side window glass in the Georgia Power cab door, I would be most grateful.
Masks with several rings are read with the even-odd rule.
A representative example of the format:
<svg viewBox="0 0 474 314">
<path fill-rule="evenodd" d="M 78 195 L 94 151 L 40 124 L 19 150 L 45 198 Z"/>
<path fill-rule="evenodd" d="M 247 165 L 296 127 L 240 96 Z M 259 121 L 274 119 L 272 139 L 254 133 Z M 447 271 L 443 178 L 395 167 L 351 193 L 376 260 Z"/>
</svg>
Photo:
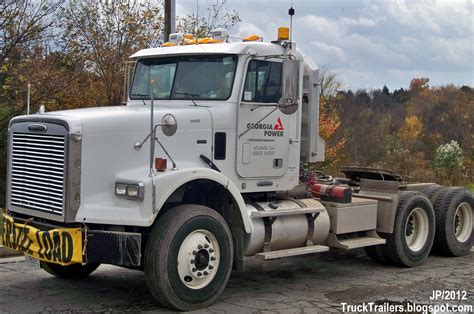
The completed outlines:
<svg viewBox="0 0 474 314">
<path fill-rule="evenodd" d="M 281 98 L 281 73 L 281 62 L 250 61 L 242 101 L 278 102 Z"/>
</svg>

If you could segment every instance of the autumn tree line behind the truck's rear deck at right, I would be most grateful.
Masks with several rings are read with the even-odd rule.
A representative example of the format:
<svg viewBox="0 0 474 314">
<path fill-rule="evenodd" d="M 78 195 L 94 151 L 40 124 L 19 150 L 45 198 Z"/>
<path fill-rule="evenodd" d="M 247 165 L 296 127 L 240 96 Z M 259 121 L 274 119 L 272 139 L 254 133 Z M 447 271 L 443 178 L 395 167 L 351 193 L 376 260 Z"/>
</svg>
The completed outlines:
<svg viewBox="0 0 474 314">
<path fill-rule="evenodd" d="M 431 87 L 428 78 L 414 78 L 408 89 L 392 92 L 386 86 L 371 91 L 338 87 L 321 98 L 326 171 L 372 166 L 396 171 L 408 182 L 473 183 L 471 87 Z"/>
</svg>

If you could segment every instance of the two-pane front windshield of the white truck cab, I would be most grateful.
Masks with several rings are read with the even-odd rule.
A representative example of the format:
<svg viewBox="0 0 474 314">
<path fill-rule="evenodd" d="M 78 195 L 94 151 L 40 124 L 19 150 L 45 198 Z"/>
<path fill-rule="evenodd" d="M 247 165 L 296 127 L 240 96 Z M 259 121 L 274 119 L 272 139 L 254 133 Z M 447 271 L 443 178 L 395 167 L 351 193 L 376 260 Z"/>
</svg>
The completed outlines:
<svg viewBox="0 0 474 314">
<path fill-rule="evenodd" d="M 154 99 L 226 100 L 236 66 L 235 55 L 142 59 L 135 68 L 130 99 L 150 99 L 152 89 Z"/>
</svg>

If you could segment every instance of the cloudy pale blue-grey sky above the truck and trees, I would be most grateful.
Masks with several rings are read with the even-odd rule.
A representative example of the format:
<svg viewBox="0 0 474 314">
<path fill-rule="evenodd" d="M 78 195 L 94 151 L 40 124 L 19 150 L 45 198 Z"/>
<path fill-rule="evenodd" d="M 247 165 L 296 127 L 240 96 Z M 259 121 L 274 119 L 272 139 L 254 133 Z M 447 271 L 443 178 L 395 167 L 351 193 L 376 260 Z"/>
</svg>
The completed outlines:
<svg viewBox="0 0 474 314">
<path fill-rule="evenodd" d="M 177 14 L 213 0 L 176 0 Z M 275 40 L 291 0 L 227 0 L 241 22 L 230 33 Z M 391 91 L 412 78 L 474 87 L 474 0 L 293 0 L 293 39 L 347 89 Z"/>
</svg>

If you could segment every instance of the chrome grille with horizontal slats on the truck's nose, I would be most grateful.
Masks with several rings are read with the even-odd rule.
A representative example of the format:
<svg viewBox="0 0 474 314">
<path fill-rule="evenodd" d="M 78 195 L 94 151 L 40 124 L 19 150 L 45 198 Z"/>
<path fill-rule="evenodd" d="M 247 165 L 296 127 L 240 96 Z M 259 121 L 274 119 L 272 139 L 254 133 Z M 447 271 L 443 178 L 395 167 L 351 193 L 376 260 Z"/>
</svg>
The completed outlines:
<svg viewBox="0 0 474 314">
<path fill-rule="evenodd" d="M 65 196 L 65 137 L 13 133 L 11 204 L 62 215 Z"/>
</svg>

